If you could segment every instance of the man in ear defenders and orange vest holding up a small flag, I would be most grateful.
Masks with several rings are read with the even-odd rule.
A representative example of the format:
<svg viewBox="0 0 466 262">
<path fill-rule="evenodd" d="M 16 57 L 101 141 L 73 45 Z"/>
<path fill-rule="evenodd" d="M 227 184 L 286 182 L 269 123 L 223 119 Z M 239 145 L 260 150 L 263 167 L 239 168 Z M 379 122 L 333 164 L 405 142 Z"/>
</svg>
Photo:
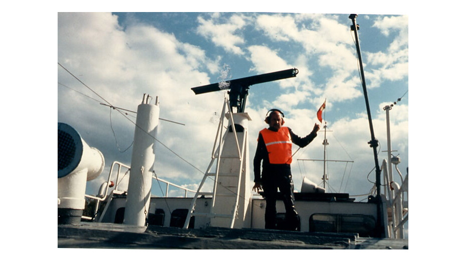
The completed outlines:
<svg viewBox="0 0 466 262">
<path fill-rule="evenodd" d="M 255 184 L 253 191 L 264 190 L 266 198 L 265 227 L 275 229 L 277 188 L 279 188 L 286 209 L 286 229 L 297 230 L 299 217 L 294 203 L 294 185 L 290 165 L 292 161 L 291 146 L 292 143 L 300 147 L 307 146 L 317 136 L 320 126 L 315 124 L 312 132 L 301 138 L 294 134 L 289 127 L 283 126 L 285 121 L 282 111 L 271 109 L 267 113 L 265 122 L 269 124 L 269 128 L 264 128 L 259 132 L 256 155 L 254 156 Z"/>
</svg>

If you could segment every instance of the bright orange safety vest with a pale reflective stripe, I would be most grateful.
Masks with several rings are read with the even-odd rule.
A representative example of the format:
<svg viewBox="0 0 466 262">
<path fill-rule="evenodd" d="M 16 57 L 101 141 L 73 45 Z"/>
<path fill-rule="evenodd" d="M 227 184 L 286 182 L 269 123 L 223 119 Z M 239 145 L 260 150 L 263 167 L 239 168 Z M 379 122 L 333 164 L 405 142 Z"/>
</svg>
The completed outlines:
<svg viewBox="0 0 466 262">
<path fill-rule="evenodd" d="M 271 164 L 291 164 L 291 136 L 288 127 L 277 132 L 264 128 L 259 132 L 264 139 Z"/>
</svg>

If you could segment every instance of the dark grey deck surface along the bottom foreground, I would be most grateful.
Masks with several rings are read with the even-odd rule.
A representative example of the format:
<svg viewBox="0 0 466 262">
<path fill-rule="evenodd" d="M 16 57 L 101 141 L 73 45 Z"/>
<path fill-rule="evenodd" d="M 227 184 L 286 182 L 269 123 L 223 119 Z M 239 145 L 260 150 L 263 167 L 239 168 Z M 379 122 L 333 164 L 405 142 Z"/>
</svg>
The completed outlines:
<svg viewBox="0 0 466 262">
<path fill-rule="evenodd" d="M 407 239 L 362 238 L 351 233 L 208 227 L 184 229 L 81 222 L 58 225 L 59 248 L 136 249 L 407 249 Z"/>
</svg>

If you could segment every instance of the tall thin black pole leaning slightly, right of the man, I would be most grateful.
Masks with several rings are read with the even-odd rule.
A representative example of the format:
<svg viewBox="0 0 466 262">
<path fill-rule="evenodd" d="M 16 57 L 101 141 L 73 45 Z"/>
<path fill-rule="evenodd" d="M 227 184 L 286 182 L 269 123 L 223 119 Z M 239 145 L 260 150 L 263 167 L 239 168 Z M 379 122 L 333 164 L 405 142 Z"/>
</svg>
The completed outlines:
<svg viewBox="0 0 466 262">
<path fill-rule="evenodd" d="M 366 80 L 364 78 L 364 70 L 362 67 L 362 59 L 361 59 L 361 51 L 359 47 L 359 37 L 358 37 L 358 26 L 356 25 L 356 17 L 358 15 L 351 14 L 349 16 L 349 19 L 353 22 L 353 26 L 351 27 L 351 30 L 354 31 L 354 36 L 356 40 L 356 51 L 358 53 L 358 60 L 359 60 L 359 68 L 361 69 L 361 80 L 362 80 L 362 89 L 364 92 L 364 99 L 366 101 L 366 109 L 367 109 L 367 118 L 369 119 L 369 129 L 370 129 L 370 135 L 371 135 L 371 140 L 368 142 L 370 147 L 372 147 L 374 151 L 374 161 L 375 161 L 375 187 L 376 187 L 376 197 L 375 201 L 377 203 L 377 236 L 378 237 L 384 237 L 385 230 L 382 225 L 382 198 L 380 196 L 380 167 L 379 167 L 379 161 L 377 159 L 377 146 L 378 146 L 378 141 L 375 139 L 374 136 L 374 127 L 372 126 L 372 118 L 370 114 L 370 108 L 369 108 L 369 98 L 367 96 L 367 89 L 366 89 Z"/>
</svg>

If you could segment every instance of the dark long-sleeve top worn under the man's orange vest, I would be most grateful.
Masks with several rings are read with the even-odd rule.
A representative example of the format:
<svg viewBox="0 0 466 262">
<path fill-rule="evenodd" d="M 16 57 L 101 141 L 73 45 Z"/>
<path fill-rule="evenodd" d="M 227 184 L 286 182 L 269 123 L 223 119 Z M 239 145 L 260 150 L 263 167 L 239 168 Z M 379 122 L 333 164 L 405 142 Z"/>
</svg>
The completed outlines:
<svg viewBox="0 0 466 262">
<path fill-rule="evenodd" d="M 269 130 L 272 130 L 269 128 Z M 311 132 L 306 137 L 299 137 L 291 128 L 290 131 L 291 141 L 299 147 L 305 147 L 317 136 L 317 132 Z M 273 131 L 273 130 L 272 130 Z M 291 175 L 291 167 L 289 164 L 271 164 L 269 161 L 269 152 L 267 151 L 264 138 L 259 133 L 257 142 L 256 155 L 254 156 L 254 182 L 261 182 L 261 161 L 262 161 L 262 177 L 267 176 L 272 172 L 281 173 L 283 175 Z"/>
</svg>

